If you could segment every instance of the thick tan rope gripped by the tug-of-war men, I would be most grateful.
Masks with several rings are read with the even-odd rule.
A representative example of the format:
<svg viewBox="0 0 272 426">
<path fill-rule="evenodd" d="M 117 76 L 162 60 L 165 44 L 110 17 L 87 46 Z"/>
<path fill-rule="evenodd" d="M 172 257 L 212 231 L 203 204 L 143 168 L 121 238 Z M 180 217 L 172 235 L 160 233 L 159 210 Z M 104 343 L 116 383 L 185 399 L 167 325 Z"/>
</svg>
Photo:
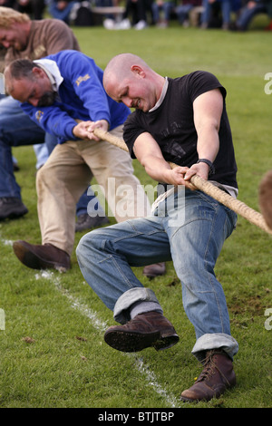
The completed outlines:
<svg viewBox="0 0 272 426">
<path fill-rule="evenodd" d="M 112 145 L 121 148 L 121 150 L 128 151 L 128 147 L 125 142 L 122 139 L 113 136 L 111 133 L 102 131 L 100 129 L 95 129 L 93 133 L 98 138 L 106 140 L 107 142 L 112 143 Z M 178 167 L 177 164 L 169 164 L 171 169 Z M 253 225 L 256 225 L 258 228 L 261 228 L 263 231 L 267 232 L 267 234 L 272 235 L 272 229 L 268 228 L 267 222 L 265 221 L 265 218 L 261 213 L 258 213 L 253 208 L 249 208 L 247 204 L 243 203 L 242 201 L 239 201 L 237 198 L 231 197 L 227 194 L 227 192 L 223 191 L 222 189 L 219 189 L 211 182 L 209 182 L 209 180 L 202 179 L 199 176 L 195 175 L 190 179 L 190 182 L 197 189 L 200 189 L 201 191 L 205 192 L 205 194 L 208 194 L 210 197 L 215 198 L 224 206 L 235 211 L 242 218 L 246 218 L 248 222 L 252 223 Z"/>
</svg>

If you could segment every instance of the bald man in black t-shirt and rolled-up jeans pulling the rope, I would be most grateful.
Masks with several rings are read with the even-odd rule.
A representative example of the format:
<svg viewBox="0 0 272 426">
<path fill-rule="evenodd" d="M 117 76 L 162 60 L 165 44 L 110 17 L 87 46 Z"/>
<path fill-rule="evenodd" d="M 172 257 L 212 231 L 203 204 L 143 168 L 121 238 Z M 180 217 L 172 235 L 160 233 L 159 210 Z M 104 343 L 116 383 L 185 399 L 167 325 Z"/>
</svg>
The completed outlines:
<svg viewBox="0 0 272 426">
<path fill-rule="evenodd" d="M 226 90 L 205 72 L 164 78 L 141 58 L 122 53 L 108 63 L 103 84 L 116 102 L 135 108 L 124 140 L 152 179 L 167 187 L 149 218 L 129 220 L 84 236 L 77 248 L 83 276 L 121 325 L 105 341 L 124 352 L 179 340 L 150 288 L 131 266 L 172 260 L 182 284 L 182 303 L 194 325 L 192 353 L 204 364 L 199 379 L 181 393 L 183 401 L 209 401 L 236 382 L 225 295 L 214 266 L 236 214 L 190 183 L 210 179 L 237 196 L 236 161 L 228 123 Z M 177 165 L 170 167 L 170 162 Z"/>
</svg>

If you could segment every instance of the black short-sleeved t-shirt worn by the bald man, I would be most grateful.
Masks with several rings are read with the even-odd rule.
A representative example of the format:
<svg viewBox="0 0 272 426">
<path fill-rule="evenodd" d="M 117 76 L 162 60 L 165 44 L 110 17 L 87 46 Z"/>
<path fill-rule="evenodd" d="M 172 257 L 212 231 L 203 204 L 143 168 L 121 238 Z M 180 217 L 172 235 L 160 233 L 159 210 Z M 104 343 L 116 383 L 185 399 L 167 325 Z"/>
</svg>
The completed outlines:
<svg viewBox="0 0 272 426">
<path fill-rule="evenodd" d="M 138 136 L 147 131 L 160 145 L 165 160 L 190 167 L 199 160 L 198 135 L 193 120 L 193 102 L 204 92 L 219 89 L 224 107 L 219 128 L 219 153 L 214 161 L 215 174 L 209 179 L 238 188 L 237 165 L 228 122 L 225 98 L 227 92 L 211 73 L 197 71 L 176 79 L 168 79 L 169 86 L 159 108 L 151 112 L 136 110 L 124 125 L 123 138 L 135 158 L 133 145 Z"/>
</svg>

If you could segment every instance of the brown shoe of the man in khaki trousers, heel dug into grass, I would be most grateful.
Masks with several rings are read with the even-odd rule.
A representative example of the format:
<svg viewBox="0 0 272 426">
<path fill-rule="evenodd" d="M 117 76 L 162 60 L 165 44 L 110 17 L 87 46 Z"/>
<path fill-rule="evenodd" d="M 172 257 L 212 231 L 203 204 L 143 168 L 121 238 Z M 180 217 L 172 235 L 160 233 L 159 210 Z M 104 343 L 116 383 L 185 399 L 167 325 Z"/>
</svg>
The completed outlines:
<svg viewBox="0 0 272 426">
<path fill-rule="evenodd" d="M 66 272 L 71 267 L 70 256 L 52 244 L 34 246 L 26 241 L 15 241 L 14 252 L 25 266 L 33 269 L 53 268 L 59 272 Z"/>
</svg>

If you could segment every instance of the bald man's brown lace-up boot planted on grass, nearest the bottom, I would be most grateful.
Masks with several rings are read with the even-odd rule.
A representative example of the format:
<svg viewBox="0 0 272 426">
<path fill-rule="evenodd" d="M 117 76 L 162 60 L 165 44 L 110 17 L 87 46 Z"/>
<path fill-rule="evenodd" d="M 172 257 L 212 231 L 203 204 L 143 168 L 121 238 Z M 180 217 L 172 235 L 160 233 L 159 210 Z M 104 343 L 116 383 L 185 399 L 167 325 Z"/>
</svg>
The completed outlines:
<svg viewBox="0 0 272 426">
<path fill-rule="evenodd" d="M 209 401 L 219 396 L 236 384 L 232 361 L 227 353 L 214 349 L 207 353 L 204 368 L 198 380 L 186 391 L 180 399 L 186 402 Z"/>
</svg>

